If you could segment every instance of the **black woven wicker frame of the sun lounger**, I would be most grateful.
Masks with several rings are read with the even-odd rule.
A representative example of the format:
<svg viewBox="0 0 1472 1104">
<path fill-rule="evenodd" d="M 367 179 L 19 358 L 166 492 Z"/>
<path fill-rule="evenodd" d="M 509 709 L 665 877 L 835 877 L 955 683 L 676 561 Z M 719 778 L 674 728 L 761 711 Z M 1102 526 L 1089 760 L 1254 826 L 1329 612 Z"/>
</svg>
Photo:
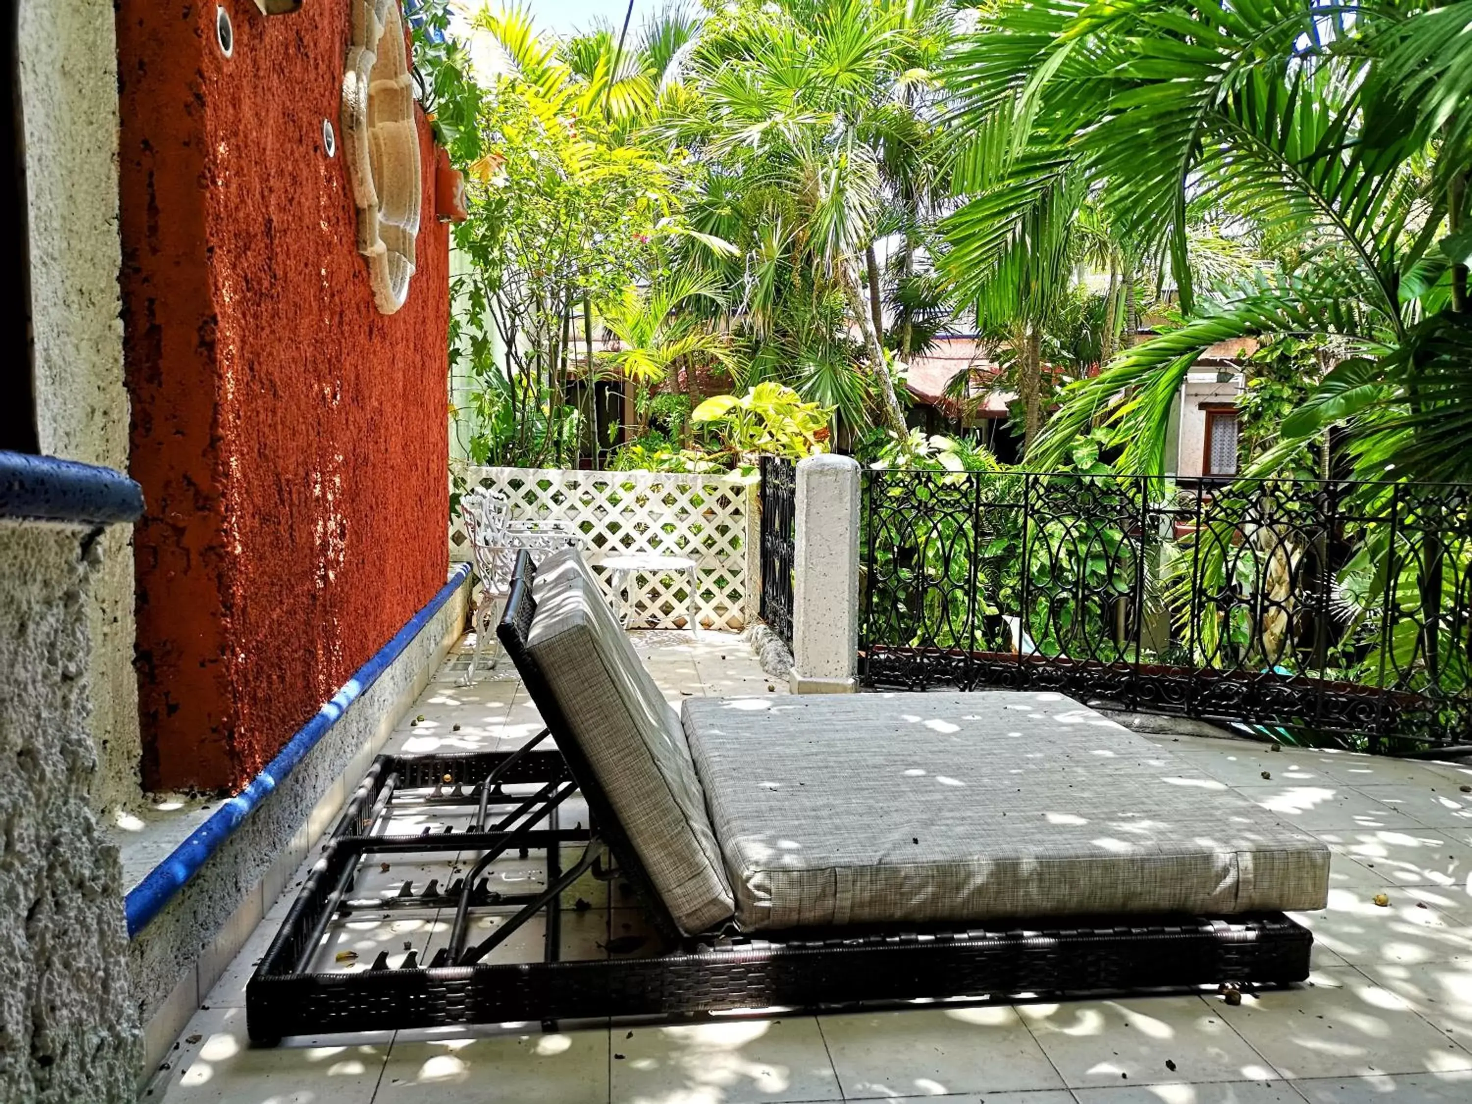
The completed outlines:
<svg viewBox="0 0 1472 1104">
<path fill-rule="evenodd" d="M 604 1017 L 687 1019 L 704 1013 L 788 1007 L 810 1011 L 896 1004 L 920 998 L 986 998 L 1007 994 L 1082 994 L 1195 985 L 1287 985 L 1309 976 L 1312 935 L 1282 913 L 1234 917 L 1128 916 L 1055 917 L 904 930 L 854 927 L 762 932 L 732 929 L 680 936 L 654 892 L 637 854 L 612 815 L 606 795 L 573 740 L 556 751 L 539 745 L 565 721 L 536 662 L 527 631 L 536 604 L 534 567 L 518 556 L 499 627 L 548 729 L 511 754 L 383 755 L 344 810 L 322 858 L 303 885 L 286 923 L 246 991 L 252 1041 L 290 1035 L 371 1032 L 453 1025 Z M 511 796 L 517 786 L 530 796 Z M 467 832 L 377 835 L 399 790 L 430 789 L 439 805 L 475 805 Z M 558 805 L 581 789 L 592 823 L 558 826 Z M 500 810 L 509 808 L 508 813 Z M 490 824 L 493 811 L 499 817 Z M 583 858 L 564 870 L 565 845 L 584 843 Z M 546 851 L 546 888 L 496 896 L 481 871 L 508 851 Z M 420 894 L 406 883 L 387 902 L 356 902 L 352 886 L 369 855 L 481 852 L 468 874 L 445 889 Z M 617 873 L 640 898 L 665 938 L 652 957 L 559 961 L 562 892 L 586 871 Z M 521 910 L 490 939 L 465 946 L 468 913 L 477 905 Z M 455 908 L 449 945 L 420 964 L 397 967 L 380 955 L 356 973 L 314 973 L 311 963 L 334 917 L 356 907 Z M 537 913 L 546 914 L 543 961 L 486 964 L 496 945 Z"/>
</svg>

